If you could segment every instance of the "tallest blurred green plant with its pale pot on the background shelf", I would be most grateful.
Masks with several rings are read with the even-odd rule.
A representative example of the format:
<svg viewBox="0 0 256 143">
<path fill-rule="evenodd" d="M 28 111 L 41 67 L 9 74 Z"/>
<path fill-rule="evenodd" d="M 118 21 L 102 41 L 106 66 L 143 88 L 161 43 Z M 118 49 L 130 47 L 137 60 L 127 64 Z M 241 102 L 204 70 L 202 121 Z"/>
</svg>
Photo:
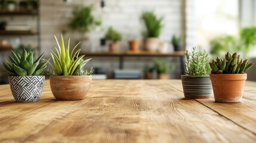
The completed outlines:
<svg viewBox="0 0 256 143">
<path fill-rule="evenodd" d="M 164 17 L 157 17 L 153 11 L 144 11 L 141 15 L 146 30 L 144 31 L 144 49 L 146 51 L 158 51 L 159 35 L 162 31 L 162 20 Z"/>
</svg>

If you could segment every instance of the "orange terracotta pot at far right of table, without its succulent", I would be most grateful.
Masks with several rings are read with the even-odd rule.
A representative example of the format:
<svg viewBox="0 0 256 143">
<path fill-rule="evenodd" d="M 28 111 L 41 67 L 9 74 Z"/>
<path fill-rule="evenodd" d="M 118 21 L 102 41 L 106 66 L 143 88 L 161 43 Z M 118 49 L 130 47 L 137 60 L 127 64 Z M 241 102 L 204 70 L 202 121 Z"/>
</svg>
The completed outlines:
<svg viewBox="0 0 256 143">
<path fill-rule="evenodd" d="M 241 102 L 247 74 L 210 74 L 216 102 Z"/>
</svg>

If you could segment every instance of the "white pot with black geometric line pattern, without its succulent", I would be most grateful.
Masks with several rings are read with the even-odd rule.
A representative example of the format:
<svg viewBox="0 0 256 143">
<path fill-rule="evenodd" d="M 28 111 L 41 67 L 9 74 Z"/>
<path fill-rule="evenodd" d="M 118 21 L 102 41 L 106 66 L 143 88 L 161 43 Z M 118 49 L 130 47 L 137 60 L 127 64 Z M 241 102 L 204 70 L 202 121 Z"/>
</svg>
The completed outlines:
<svg viewBox="0 0 256 143">
<path fill-rule="evenodd" d="M 17 102 L 38 101 L 44 86 L 45 76 L 9 76 L 13 97 Z"/>
</svg>

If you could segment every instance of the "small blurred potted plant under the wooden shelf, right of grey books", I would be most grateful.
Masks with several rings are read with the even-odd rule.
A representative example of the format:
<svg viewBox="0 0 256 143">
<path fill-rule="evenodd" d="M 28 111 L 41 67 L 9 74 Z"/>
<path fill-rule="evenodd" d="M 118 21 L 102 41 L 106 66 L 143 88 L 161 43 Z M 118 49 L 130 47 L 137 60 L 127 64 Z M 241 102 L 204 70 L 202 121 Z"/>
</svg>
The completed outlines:
<svg viewBox="0 0 256 143">
<path fill-rule="evenodd" d="M 166 62 L 166 60 L 155 60 L 154 63 L 155 70 L 158 73 L 158 79 L 169 79 L 169 64 Z"/>
</svg>

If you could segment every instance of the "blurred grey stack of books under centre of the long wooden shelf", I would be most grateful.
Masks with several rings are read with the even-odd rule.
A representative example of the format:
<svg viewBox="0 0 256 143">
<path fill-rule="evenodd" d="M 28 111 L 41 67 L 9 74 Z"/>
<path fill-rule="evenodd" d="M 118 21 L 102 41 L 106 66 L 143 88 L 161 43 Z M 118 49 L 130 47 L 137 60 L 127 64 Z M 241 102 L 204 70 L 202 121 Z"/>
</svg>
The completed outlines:
<svg viewBox="0 0 256 143">
<path fill-rule="evenodd" d="M 114 79 L 140 79 L 141 71 L 135 69 L 116 69 L 113 71 Z"/>
</svg>

